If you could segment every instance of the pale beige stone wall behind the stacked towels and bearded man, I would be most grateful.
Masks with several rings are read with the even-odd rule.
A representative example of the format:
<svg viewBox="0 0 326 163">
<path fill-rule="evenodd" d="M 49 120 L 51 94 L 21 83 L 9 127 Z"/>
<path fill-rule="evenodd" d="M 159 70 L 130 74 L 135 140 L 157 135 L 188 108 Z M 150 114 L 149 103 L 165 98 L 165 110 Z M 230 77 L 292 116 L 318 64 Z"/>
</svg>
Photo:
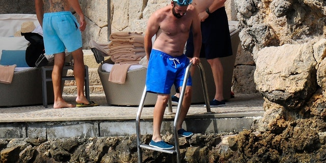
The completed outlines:
<svg viewBox="0 0 326 163">
<path fill-rule="evenodd" d="M 107 42 L 107 32 L 145 32 L 151 14 L 170 4 L 167 0 L 111 0 L 107 9 L 107 0 L 80 2 L 88 20 L 88 30 L 83 35 L 85 48 L 88 48 L 90 39 Z M 226 10 L 229 20 L 237 20 L 234 0 L 227 1 Z M 110 24 L 107 23 L 107 17 L 110 17 Z"/>
</svg>

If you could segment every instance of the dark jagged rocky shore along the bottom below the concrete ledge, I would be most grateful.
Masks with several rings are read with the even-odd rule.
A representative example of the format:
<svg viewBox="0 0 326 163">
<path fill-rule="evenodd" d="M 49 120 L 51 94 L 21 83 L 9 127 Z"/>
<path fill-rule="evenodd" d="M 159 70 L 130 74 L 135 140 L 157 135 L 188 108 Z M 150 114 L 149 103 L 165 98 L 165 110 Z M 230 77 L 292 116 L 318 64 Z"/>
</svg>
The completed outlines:
<svg viewBox="0 0 326 163">
<path fill-rule="evenodd" d="M 325 126 L 325 123 L 321 123 Z M 239 133 L 194 134 L 179 138 L 182 162 L 325 162 L 325 139 L 316 139 L 306 124 L 290 124 L 283 134 L 244 130 Z M 312 126 L 319 124 L 311 124 Z M 298 129 L 300 128 L 300 129 Z M 310 134 L 307 130 L 311 131 Z M 277 136 L 276 136 L 277 135 Z M 173 135 L 163 139 L 173 144 Z M 151 135 L 143 135 L 149 143 Z M 0 140 L 7 162 L 138 162 L 137 140 L 129 137 Z M 172 162 L 175 156 L 143 149 L 143 162 Z"/>
</svg>

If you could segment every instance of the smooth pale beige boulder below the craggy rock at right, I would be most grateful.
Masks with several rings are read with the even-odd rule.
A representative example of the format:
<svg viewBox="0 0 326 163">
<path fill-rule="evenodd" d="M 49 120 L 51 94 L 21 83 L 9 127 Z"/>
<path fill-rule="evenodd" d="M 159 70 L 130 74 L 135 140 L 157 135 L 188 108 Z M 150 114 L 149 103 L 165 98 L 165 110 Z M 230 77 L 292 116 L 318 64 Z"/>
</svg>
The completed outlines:
<svg viewBox="0 0 326 163">
<path fill-rule="evenodd" d="M 311 44 L 265 47 L 254 58 L 257 90 L 268 100 L 295 109 L 316 91 L 317 63 Z"/>
</svg>

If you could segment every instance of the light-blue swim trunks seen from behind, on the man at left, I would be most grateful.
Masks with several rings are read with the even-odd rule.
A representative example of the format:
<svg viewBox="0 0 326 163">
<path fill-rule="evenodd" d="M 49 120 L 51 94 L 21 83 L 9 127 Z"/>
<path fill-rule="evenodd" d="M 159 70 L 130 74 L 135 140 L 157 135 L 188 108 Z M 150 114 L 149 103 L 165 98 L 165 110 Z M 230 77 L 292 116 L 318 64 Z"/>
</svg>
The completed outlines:
<svg viewBox="0 0 326 163">
<path fill-rule="evenodd" d="M 42 28 L 47 55 L 66 49 L 72 52 L 83 46 L 79 23 L 70 11 L 44 13 Z"/>
</svg>

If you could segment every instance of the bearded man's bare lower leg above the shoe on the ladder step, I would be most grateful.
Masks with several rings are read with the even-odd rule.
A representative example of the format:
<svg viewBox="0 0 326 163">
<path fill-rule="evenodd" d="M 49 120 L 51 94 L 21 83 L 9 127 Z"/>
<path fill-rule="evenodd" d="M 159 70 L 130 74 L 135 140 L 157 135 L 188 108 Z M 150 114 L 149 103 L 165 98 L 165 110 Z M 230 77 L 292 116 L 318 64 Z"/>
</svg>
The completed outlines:
<svg viewBox="0 0 326 163">
<path fill-rule="evenodd" d="M 153 114 L 153 137 L 152 140 L 154 142 L 161 141 L 160 131 L 161 124 L 165 112 L 165 108 L 167 107 L 167 103 L 169 101 L 170 95 L 168 94 L 158 94 L 157 101 L 154 106 L 154 114 Z"/>
</svg>

